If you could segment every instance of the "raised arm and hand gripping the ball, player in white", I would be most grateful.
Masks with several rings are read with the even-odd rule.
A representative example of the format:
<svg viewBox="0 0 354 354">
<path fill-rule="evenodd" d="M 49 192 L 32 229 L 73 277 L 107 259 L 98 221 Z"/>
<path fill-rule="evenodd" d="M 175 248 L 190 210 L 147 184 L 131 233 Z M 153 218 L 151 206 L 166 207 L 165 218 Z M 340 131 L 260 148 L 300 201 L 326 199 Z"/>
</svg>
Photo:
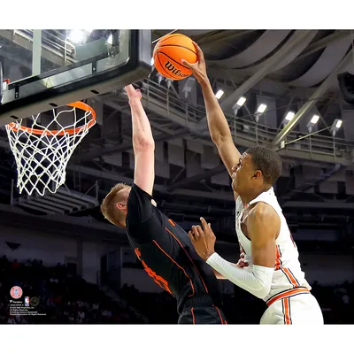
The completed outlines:
<svg viewBox="0 0 354 354">
<path fill-rule="evenodd" d="M 198 61 L 196 64 L 190 64 L 183 60 L 183 65 L 189 67 L 202 88 L 206 117 L 208 119 L 208 127 L 212 142 L 214 142 L 218 148 L 219 156 L 227 167 L 227 172 L 231 176 L 232 167 L 238 163 L 240 152 L 235 147 L 227 119 L 224 112 L 221 110 L 218 99 L 212 91 L 212 85 L 206 73 L 203 51 L 199 48 L 196 42 L 194 42 L 194 45 L 196 47 Z"/>
</svg>

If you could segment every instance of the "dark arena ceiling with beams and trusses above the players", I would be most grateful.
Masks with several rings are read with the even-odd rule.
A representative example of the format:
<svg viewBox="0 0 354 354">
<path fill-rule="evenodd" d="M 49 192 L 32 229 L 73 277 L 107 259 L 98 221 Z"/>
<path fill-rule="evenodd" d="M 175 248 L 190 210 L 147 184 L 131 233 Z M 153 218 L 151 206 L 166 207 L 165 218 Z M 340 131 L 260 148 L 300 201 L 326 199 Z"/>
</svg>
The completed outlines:
<svg viewBox="0 0 354 354">
<path fill-rule="evenodd" d="M 284 173 L 276 189 L 291 222 L 319 227 L 327 222 L 341 227 L 352 220 L 354 108 L 343 99 L 337 78 L 339 73 L 354 68 L 351 32 L 173 31 L 191 36 L 204 50 L 212 85 L 225 93 L 219 102 L 240 150 L 256 141 L 279 150 Z M 0 37 L 11 41 L 5 31 L 0 32 Z M 152 40 L 170 32 L 152 30 Z M 17 65 L 27 70 L 20 63 L 18 47 Z M 43 65 L 55 67 L 57 60 L 51 55 Z M 186 89 L 187 81 L 160 79 L 156 71 L 151 71 L 150 77 L 140 83 L 142 103 L 163 155 L 158 160 L 161 173 L 155 189 L 160 206 L 175 219 L 205 214 L 219 220 L 220 228 L 229 227 L 233 222 L 232 195 L 229 181 L 225 182 L 225 168 L 215 159 L 216 151 L 206 130 L 200 89 L 193 81 L 189 82 L 191 89 Z M 241 96 L 247 98 L 246 104 L 235 112 Z M 266 103 L 268 109 L 255 122 L 254 112 L 260 103 Z M 101 200 L 115 182 L 132 182 L 131 123 L 127 97 L 121 90 L 97 96 L 89 104 L 98 112 L 98 124 L 75 151 L 68 166 L 67 186 L 84 193 L 98 181 Z M 289 111 L 294 112 L 294 117 L 287 121 Z M 312 135 L 307 136 L 313 115 L 318 115 L 319 121 Z M 331 127 L 335 119 L 342 120 L 342 128 L 334 139 Z M 4 135 L 1 146 L 1 193 L 6 204 L 16 175 Z M 183 161 L 176 163 L 179 157 Z M 190 167 L 187 160 L 193 160 L 197 167 Z M 215 183 L 215 176 L 223 182 Z M 78 215 L 100 219 L 97 207 Z"/>
</svg>

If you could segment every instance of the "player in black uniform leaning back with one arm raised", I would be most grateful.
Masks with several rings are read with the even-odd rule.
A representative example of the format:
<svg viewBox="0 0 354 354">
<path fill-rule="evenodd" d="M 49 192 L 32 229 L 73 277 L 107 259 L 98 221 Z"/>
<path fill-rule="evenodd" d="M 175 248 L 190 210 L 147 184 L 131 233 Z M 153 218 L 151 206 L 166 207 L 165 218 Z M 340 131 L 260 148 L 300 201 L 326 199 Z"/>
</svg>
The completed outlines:
<svg viewBox="0 0 354 354">
<path fill-rule="evenodd" d="M 227 324 L 219 308 L 219 284 L 212 267 L 198 257 L 189 235 L 152 200 L 155 142 L 142 108 L 142 94 L 132 85 L 126 91 L 132 113 L 134 184 L 113 187 L 101 211 L 112 224 L 127 227 L 128 241 L 142 266 L 176 298 L 179 324 Z"/>
</svg>

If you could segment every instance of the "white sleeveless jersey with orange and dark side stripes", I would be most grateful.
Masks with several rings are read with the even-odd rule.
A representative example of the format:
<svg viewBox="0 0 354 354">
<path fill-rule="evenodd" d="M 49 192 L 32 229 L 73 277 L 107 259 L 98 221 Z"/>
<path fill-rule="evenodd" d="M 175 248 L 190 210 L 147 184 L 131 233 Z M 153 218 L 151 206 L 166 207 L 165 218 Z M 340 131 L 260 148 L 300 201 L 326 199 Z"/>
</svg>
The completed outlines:
<svg viewBox="0 0 354 354">
<path fill-rule="evenodd" d="M 253 266 L 250 239 L 242 232 L 242 217 L 251 204 L 256 204 L 258 202 L 271 205 L 281 218 L 281 230 L 276 239 L 276 260 L 272 287 L 264 300 L 267 301 L 270 297 L 287 289 L 305 287 L 310 290 L 311 287 L 304 279 L 304 272 L 301 270 L 296 243 L 290 233 L 287 220 L 281 212 L 281 206 L 278 203 L 273 188 L 261 193 L 255 199 L 251 200 L 249 204 L 244 206 L 240 196 L 236 199 L 236 233 L 238 242 L 240 243 L 240 252 L 245 254 L 245 261 L 250 267 Z"/>
</svg>

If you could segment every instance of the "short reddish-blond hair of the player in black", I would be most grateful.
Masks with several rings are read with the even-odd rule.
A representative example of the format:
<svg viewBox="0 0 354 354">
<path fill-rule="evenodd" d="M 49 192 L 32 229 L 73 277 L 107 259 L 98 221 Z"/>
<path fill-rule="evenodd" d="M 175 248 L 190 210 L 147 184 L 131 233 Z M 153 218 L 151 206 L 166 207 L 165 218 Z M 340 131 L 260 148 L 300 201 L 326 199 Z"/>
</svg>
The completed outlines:
<svg viewBox="0 0 354 354">
<path fill-rule="evenodd" d="M 104 214 L 104 218 L 119 227 L 124 226 L 125 215 L 123 212 L 119 211 L 115 205 L 121 202 L 119 191 L 129 187 L 130 186 L 126 183 L 117 183 L 107 194 L 107 196 L 105 196 L 104 201 L 101 204 L 101 212 Z"/>
</svg>

